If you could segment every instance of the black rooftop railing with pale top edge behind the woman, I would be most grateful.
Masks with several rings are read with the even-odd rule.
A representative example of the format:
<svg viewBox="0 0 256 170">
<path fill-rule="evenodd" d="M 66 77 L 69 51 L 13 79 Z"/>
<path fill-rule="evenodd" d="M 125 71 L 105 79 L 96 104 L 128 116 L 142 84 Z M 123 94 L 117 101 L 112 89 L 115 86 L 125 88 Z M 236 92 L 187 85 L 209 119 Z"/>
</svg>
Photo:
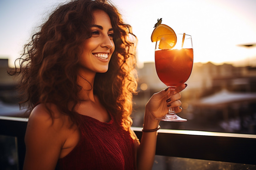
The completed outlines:
<svg viewBox="0 0 256 170">
<path fill-rule="evenodd" d="M 18 169 L 25 157 L 26 127 L 26 118 L 0 116 L 0 135 L 16 138 Z M 141 128 L 132 129 L 140 139 Z M 160 129 L 156 155 L 256 165 L 256 135 Z"/>
</svg>

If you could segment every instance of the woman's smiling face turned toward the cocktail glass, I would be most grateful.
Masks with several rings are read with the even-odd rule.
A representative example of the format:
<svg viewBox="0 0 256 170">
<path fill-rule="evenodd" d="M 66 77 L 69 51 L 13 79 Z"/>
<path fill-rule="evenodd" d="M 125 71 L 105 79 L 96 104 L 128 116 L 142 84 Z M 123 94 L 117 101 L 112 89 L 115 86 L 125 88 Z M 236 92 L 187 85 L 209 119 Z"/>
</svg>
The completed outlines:
<svg viewBox="0 0 256 170">
<path fill-rule="evenodd" d="M 107 13 L 95 10 L 93 17 L 95 23 L 91 27 L 92 37 L 84 42 L 84 50 L 79 57 L 80 70 L 86 73 L 105 73 L 115 50 L 114 31 Z"/>
</svg>

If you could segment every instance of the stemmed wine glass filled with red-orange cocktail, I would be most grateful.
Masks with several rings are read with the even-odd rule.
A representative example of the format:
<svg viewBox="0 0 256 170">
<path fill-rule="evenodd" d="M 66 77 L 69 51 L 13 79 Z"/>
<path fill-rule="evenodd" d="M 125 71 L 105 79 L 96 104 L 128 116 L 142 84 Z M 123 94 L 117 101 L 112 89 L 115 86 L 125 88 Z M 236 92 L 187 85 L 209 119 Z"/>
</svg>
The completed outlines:
<svg viewBox="0 0 256 170">
<path fill-rule="evenodd" d="M 176 87 L 189 79 L 193 66 L 191 36 L 176 34 L 176 44 L 173 39 L 174 36 L 175 34 L 168 34 L 157 37 L 155 46 L 155 67 L 157 75 L 170 88 L 170 95 L 173 95 Z M 165 116 L 156 119 L 175 122 L 187 121 L 177 116 L 173 108 L 169 108 Z"/>
</svg>

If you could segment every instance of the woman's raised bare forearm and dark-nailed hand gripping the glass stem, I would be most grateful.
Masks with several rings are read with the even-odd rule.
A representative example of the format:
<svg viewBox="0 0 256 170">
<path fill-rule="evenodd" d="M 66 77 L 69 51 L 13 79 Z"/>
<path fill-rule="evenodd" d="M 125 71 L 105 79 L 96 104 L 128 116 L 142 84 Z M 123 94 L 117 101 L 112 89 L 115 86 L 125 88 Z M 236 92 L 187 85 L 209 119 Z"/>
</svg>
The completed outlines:
<svg viewBox="0 0 256 170">
<path fill-rule="evenodd" d="M 144 129 L 155 129 L 159 125 L 157 117 L 162 117 L 167 113 L 167 105 L 171 104 L 176 113 L 179 113 L 182 109 L 179 107 L 181 102 L 180 91 L 185 89 L 185 84 L 177 87 L 173 96 L 168 97 L 169 89 L 167 91 L 162 90 L 155 93 L 148 101 L 145 107 L 144 115 Z M 170 102 L 166 102 L 167 99 L 171 99 Z M 142 138 L 140 146 L 137 152 L 137 169 L 138 170 L 151 170 L 155 159 L 155 148 L 157 141 L 157 132 L 142 132 Z"/>
</svg>

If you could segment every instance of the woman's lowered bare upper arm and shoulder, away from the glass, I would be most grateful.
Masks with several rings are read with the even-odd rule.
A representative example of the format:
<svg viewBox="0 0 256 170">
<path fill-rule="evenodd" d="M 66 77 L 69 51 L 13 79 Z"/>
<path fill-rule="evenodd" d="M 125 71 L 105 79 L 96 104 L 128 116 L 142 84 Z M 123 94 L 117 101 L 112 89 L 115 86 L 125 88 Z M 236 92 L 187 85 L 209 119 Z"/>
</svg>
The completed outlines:
<svg viewBox="0 0 256 170">
<path fill-rule="evenodd" d="M 55 169 L 62 147 L 59 131 L 59 121 L 52 122 L 44 105 L 33 109 L 25 135 L 24 170 Z"/>
</svg>

